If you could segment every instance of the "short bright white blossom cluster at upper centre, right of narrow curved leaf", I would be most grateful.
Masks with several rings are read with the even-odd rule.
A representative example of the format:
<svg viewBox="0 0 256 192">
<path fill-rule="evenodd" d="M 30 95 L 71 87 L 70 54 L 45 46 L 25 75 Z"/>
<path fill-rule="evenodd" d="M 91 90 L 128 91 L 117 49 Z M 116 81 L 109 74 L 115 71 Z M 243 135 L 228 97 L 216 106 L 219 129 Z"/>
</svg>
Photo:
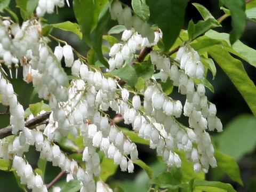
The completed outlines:
<svg viewBox="0 0 256 192">
<path fill-rule="evenodd" d="M 144 47 L 151 47 L 157 44 L 161 38 L 161 33 L 155 31 L 155 39 L 153 43 L 149 43 L 147 37 L 142 37 L 138 32 L 133 30 L 124 30 L 122 34 L 123 43 L 115 43 L 110 48 L 108 60 L 109 71 L 115 68 L 123 67 L 126 60 L 136 52 L 136 50 L 141 50 Z"/>
</svg>

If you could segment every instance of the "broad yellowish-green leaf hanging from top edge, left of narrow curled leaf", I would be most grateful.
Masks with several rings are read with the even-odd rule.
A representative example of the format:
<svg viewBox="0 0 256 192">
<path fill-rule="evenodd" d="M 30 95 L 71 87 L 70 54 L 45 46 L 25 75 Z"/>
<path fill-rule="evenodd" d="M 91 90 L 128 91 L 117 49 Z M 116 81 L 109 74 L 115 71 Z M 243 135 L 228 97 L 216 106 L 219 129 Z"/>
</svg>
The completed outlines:
<svg viewBox="0 0 256 192">
<path fill-rule="evenodd" d="M 99 22 L 99 15 L 108 0 L 74 0 L 73 10 L 76 20 L 82 30 L 85 42 L 91 46 L 93 39 L 90 33 Z"/>
</svg>

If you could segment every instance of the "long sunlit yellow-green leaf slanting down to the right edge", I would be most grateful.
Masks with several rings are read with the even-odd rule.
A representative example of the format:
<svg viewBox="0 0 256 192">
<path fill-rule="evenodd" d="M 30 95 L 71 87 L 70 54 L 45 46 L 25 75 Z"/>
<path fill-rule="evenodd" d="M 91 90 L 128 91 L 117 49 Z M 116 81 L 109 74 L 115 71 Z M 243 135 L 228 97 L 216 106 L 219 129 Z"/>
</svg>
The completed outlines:
<svg viewBox="0 0 256 192">
<path fill-rule="evenodd" d="M 225 71 L 231 82 L 234 83 L 247 102 L 247 105 L 252 110 L 254 116 L 256 116 L 256 87 L 247 75 L 243 63 L 233 58 L 227 51 L 218 45 L 212 46 L 209 53 L 223 71 Z"/>
</svg>

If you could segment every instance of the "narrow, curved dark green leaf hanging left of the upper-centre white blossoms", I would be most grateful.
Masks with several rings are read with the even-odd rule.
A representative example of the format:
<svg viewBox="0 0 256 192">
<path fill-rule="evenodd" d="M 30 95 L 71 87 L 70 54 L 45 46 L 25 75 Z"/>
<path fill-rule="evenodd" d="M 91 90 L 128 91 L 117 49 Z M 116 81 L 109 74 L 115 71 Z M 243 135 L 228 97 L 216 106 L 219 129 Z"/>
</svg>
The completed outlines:
<svg viewBox="0 0 256 192">
<path fill-rule="evenodd" d="M 108 62 L 106 61 L 105 57 L 103 57 L 102 54 L 102 35 L 105 31 L 105 27 L 109 21 L 110 18 L 110 13 L 109 13 L 109 5 L 110 3 L 106 4 L 106 6 L 104 7 L 104 9 L 102 10 L 102 17 L 100 18 L 97 27 L 95 28 L 95 30 L 93 30 L 93 32 L 91 33 L 91 39 L 93 39 L 92 41 L 92 47 L 94 49 L 94 51 L 97 53 L 98 55 L 98 59 L 99 61 L 102 63 L 102 65 L 104 65 L 105 67 L 109 67 Z"/>
</svg>

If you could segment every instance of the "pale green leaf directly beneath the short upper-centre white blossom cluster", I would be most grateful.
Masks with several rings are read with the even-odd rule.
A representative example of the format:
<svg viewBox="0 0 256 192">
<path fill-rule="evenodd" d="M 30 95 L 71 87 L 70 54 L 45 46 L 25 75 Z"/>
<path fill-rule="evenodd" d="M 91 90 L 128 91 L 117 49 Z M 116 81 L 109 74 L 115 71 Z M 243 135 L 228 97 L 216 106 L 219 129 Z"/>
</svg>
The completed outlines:
<svg viewBox="0 0 256 192">
<path fill-rule="evenodd" d="M 123 68 L 116 69 L 111 72 L 123 81 L 126 81 L 130 86 L 134 87 L 138 81 L 138 76 L 135 69 L 130 65 L 125 65 Z"/>
</svg>

